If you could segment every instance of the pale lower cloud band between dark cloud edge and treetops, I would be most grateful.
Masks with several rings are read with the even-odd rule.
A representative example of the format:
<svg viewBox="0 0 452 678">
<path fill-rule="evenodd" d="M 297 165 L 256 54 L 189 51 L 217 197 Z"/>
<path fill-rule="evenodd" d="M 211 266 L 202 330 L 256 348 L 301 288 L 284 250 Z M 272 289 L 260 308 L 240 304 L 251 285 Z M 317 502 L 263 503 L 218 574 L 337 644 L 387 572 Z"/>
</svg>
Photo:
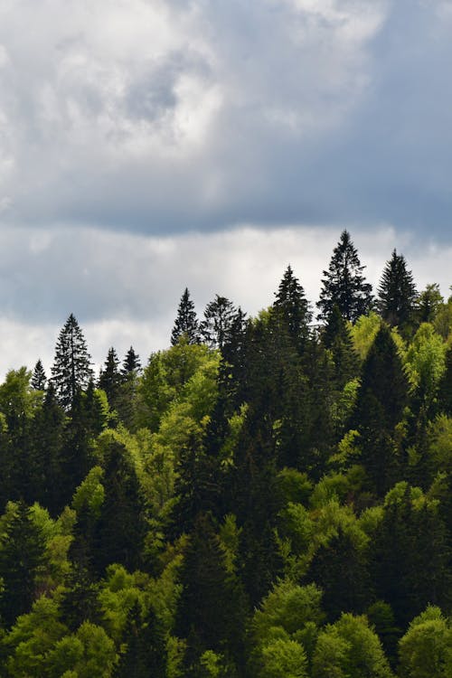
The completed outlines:
<svg viewBox="0 0 452 678">
<path fill-rule="evenodd" d="M 215 294 L 249 315 L 270 305 L 287 264 L 313 303 L 322 271 L 340 235 L 336 226 L 285 226 L 188 233 L 166 237 L 111 234 L 65 227 L 0 233 L 0 372 L 40 357 L 47 369 L 61 326 L 74 313 L 94 363 L 114 345 L 122 356 L 133 344 L 146 363 L 169 345 L 176 309 L 188 287 L 202 315 Z M 451 282 L 452 246 L 420 247 L 390 225 L 353 233 L 367 279 L 375 287 L 391 250 L 405 254 L 419 289 Z"/>
</svg>

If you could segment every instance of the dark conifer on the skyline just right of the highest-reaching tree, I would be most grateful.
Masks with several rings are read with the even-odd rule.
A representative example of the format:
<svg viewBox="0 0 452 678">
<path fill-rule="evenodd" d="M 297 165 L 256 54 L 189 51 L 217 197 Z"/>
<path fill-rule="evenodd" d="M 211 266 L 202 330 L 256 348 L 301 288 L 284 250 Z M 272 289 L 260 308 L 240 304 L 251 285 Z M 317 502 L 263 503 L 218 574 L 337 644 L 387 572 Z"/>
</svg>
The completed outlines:
<svg viewBox="0 0 452 678">
<path fill-rule="evenodd" d="M 416 310 L 416 286 L 402 254 L 393 250 L 378 288 L 377 307 L 383 320 L 397 325 L 402 332 L 410 329 Z"/>
</svg>

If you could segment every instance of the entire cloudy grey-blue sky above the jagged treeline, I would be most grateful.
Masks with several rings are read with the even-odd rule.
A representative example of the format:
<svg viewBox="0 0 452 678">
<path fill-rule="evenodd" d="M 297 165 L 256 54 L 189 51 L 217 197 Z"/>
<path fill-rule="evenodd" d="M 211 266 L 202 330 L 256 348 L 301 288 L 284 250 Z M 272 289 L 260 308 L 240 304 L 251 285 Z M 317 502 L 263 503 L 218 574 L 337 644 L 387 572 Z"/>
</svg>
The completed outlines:
<svg viewBox="0 0 452 678">
<path fill-rule="evenodd" d="M 452 0 L 0 0 L 0 372 L 315 301 L 344 228 L 447 295 L 451 64 Z"/>
</svg>

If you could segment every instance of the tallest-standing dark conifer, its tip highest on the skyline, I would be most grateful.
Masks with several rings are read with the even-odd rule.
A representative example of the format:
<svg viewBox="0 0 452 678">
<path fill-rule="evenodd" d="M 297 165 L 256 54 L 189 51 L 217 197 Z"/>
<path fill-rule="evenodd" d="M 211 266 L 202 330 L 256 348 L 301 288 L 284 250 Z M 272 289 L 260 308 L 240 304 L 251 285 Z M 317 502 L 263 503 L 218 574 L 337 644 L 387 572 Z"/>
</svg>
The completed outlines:
<svg viewBox="0 0 452 678">
<path fill-rule="evenodd" d="M 343 231 L 341 239 L 333 250 L 333 256 L 325 278 L 322 278 L 322 290 L 317 306 L 320 309 L 317 318 L 326 320 L 334 305 L 344 318 L 354 323 L 360 315 L 372 308 L 372 285 L 365 282 L 358 252 L 353 246 L 350 233 Z"/>
</svg>

